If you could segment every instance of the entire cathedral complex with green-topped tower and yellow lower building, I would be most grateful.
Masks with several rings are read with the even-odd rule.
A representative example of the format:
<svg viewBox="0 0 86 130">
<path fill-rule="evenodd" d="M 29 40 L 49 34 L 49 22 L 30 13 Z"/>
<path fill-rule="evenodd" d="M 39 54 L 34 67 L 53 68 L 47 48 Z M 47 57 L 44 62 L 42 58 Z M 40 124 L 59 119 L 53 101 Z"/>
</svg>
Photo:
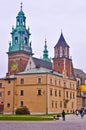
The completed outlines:
<svg viewBox="0 0 86 130">
<path fill-rule="evenodd" d="M 21 4 L 16 27 L 11 31 L 8 72 L 0 79 L 0 113 L 14 114 L 23 106 L 31 114 L 59 113 L 63 109 L 69 113 L 75 111 L 78 108 L 76 70 L 63 33 L 54 46 L 52 60 L 48 56 L 46 39 L 43 57 L 34 56 L 30 35 Z"/>
</svg>

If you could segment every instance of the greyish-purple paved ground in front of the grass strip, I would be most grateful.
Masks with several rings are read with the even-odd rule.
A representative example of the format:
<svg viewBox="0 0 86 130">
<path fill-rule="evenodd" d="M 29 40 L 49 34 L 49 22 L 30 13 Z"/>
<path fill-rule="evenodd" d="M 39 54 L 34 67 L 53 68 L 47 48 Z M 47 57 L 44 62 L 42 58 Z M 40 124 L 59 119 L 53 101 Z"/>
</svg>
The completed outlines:
<svg viewBox="0 0 86 130">
<path fill-rule="evenodd" d="M 65 121 L 0 121 L 0 130 L 86 130 L 86 115 L 68 115 Z"/>
</svg>

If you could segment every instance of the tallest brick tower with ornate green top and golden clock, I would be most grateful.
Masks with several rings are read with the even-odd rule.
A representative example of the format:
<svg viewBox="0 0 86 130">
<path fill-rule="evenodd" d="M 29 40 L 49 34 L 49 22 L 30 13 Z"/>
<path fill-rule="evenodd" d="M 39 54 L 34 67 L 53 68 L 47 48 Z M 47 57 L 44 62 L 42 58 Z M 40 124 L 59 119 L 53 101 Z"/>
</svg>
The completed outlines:
<svg viewBox="0 0 86 130">
<path fill-rule="evenodd" d="M 12 41 L 9 43 L 8 54 L 8 73 L 10 75 L 24 71 L 32 54 L 30 30 L 26 29 L 26 17 L 22 10 L 16 17 L 16 27 L 12 27 Z"/>
</svg>

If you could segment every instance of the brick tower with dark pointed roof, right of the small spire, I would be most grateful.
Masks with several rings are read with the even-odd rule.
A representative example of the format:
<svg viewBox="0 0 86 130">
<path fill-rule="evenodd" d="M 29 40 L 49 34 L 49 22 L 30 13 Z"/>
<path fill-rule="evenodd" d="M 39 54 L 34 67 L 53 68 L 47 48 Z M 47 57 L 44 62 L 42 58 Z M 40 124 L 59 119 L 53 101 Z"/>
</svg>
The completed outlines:
<svg viewBox="0 0 86 130">
<path fill-rule="evenodd" d="M 54 47 L 53 69 L 63 73 L 64 77 L 74 78 L 72 59 L 69 56 L 69 45 L 61 33 L 57 44 Z"/>
</svg>

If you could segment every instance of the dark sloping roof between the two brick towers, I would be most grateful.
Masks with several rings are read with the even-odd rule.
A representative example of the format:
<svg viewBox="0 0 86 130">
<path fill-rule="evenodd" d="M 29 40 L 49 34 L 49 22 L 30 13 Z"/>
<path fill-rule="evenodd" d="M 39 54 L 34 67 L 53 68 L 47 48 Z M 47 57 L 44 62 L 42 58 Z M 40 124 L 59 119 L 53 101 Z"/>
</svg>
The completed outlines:
<svg viewBox="0 0 86 130">
<path fill-rule="evenodd" d="M 36 65 L 36 67 L 43 67 L 43 68 L 48 68 L 48 69 L 52 69 L 52 63 L 48 62 L 48 61 L 44 61 L 42 59 L 38 59 L 33 57 L 34 63 Z"/>
</svg>

